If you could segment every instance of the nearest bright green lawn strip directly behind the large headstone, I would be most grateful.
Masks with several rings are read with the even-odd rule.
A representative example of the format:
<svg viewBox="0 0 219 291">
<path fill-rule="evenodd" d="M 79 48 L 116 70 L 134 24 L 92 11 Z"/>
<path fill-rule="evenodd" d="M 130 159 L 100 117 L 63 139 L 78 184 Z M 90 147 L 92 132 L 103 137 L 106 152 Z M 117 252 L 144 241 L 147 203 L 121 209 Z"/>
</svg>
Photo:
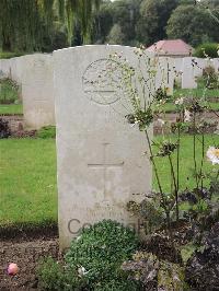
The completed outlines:
<svg viewBox="0 0 219 291">
<path fill-rule="evenodd" d="M 157 137 L 161 139 L 161 137 Z M 174 139 L 174 137 L 173 137 Z M 219 136 L 215 136 L 219 144 Z M 214 144 L 210 136 L 206 140 Z M 200 156 L 200 143 L 197 155 Z M 141 153 L 139 153 L 141 154 Z M 194 186 L 192 179 L 192 137 L 183 137 L 181 187 Z M 163 189 L 170 190 L 166 158 L 157 158 Z M 212 170 L 205 161 L 205 170 Z M 153 179 L 153 188 L 155 188 Z M 0 140 L 0 225 L 57 221 L 56 146 L 54 139 Z"/>
</svg>

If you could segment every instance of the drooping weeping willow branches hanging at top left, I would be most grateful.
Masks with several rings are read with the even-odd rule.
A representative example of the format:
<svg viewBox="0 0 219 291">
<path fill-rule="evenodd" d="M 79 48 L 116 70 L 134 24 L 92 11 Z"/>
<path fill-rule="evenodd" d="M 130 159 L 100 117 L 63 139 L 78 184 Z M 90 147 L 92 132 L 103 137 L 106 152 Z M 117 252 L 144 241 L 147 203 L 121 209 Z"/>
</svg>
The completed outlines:
<svg viewBox="0 0 219 291">
<path fill-rule="evenodd" d="M 90 38 L 92 13 L 101 0 L 1 0 L 0 44 L 7 50 L 37 50 L 66 24 L 69 43 L 77 25 L 84 42 Z"/>
</svg>

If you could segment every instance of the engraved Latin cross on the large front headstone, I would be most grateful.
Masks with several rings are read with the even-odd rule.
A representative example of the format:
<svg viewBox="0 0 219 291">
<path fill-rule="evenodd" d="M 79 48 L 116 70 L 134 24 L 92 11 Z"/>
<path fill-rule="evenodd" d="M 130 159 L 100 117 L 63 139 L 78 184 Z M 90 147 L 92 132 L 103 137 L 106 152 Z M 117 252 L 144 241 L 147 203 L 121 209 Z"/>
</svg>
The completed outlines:
<svg viewBox="0 0 219 291">
<path fill-rule="evenodd" d="M 103 195 L 104 195 L 104 200 L 107 200 L 111 194 L 107 193 L 106 190 L 106 172 L 107 168 L 113 168 L 113 167 L 122 167 L 124 165 L 124 162 L 122 163 L 106 163 L 106 149 L 110 143 L 103 143 L 103 163 L 100 164 L 88 164 L 89 167 L 91 168 L 103 168 Z"/>
</svg>

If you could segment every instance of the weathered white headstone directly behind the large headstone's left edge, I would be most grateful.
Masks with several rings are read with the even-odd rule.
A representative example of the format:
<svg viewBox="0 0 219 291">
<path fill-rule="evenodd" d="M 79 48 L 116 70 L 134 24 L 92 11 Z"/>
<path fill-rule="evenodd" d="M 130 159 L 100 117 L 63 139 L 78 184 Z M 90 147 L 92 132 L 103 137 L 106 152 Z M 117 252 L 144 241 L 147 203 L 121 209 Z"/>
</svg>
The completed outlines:
<svg viewBox="0 0 219 291">
<path fill-rule="evenodd" d="M 38 129 L 55 125 L 53 56 L 22 57 L 22 98 L 25 125 Z"/>
</svg>

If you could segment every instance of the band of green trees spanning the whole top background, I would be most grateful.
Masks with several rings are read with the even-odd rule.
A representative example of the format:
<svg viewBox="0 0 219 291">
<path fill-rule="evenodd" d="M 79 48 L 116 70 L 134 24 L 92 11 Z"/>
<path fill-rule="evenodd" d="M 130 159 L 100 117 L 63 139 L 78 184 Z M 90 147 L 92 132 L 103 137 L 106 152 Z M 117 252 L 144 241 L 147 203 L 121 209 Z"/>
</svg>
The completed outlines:
<svg viewBox="0 0 219 291">
<path fill-rule="evenodd" d="M 53 51 L 81 44 L 219 42 L 218 0 L 0 0 L 0 49 Z"/>
</svg>

